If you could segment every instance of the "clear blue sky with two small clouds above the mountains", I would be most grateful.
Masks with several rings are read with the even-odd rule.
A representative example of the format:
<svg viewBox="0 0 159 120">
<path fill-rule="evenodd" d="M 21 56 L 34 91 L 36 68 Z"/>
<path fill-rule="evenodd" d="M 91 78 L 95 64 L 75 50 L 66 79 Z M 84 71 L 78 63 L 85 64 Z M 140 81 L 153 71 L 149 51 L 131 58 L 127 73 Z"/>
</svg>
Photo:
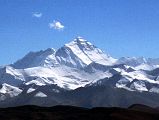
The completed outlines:
<svg viewBox="0 0 159 120">
<path fill-rule="evenodd" d="M 115 58 L 157 58 L 159 0 L 0 0 L 0 65 L 77 36 Z"/>
</svg>

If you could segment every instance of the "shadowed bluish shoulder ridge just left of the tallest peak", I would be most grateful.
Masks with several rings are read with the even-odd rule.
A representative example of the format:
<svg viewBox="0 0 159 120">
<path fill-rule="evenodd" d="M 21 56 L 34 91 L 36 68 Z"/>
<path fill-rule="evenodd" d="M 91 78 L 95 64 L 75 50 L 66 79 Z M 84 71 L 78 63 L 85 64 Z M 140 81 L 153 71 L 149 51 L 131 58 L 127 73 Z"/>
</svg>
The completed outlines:
<svg viewBox="0 0 159 120">
<path fill-rule="evenodd" d="M 30 52 L 11 66 L 17 69 L 25 69 L 38 66 L 56 65 L 58 65 L 58 63 L 55 58 L 55 50 L 53 48 L 49 48 L 39 52 Z"/>
</svg>

